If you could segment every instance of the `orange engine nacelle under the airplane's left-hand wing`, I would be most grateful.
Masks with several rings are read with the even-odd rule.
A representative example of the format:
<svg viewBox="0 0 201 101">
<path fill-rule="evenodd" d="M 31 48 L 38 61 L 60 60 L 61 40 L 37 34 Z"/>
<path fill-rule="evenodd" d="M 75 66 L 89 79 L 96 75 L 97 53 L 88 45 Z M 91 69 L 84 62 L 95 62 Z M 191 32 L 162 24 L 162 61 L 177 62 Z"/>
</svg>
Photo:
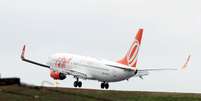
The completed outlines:
<svg viewBox="0 0 201 101">
<path fill-rule="evenodd" d="M 57 71 L 51 71 L 50 72 L 50 77 L 52 77 L 55 80 L 64 80 L 66 78 L 66 75 L 63 73 L 59 73 Z"/>
</svg>

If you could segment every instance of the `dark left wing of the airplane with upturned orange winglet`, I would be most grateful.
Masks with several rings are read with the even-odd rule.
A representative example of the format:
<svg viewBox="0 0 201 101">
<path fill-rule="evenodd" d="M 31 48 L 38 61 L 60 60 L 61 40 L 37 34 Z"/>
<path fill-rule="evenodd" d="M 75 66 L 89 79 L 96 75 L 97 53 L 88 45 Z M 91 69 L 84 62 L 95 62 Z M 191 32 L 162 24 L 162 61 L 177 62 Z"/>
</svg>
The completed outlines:
<svg viewBox="0 0 201 101">
<path fill-rule="evenodd" d="M 24 57 L 25 48 L 26 48 L 26 46 L 24 45 L 24 46 L 23 46 L 23 49 L 22 49 L 22 53 L 21 53 L 21 60 L 22 60 L 22 61 L 25 61 L 25 62 L 34 64 L 34 65 L 42 66 L 42 67 L 45 67 L 45 68 L 50 68 L 50 66 L 48 66 L 48 65 L 45 65 L 45 64 L 42 64 L 42 63 L 39 63 L 39 62 L 35 62 L 35 61 L 33 61 L 33 60 L 26 59 L 26 58 Z"/>
</svg>

